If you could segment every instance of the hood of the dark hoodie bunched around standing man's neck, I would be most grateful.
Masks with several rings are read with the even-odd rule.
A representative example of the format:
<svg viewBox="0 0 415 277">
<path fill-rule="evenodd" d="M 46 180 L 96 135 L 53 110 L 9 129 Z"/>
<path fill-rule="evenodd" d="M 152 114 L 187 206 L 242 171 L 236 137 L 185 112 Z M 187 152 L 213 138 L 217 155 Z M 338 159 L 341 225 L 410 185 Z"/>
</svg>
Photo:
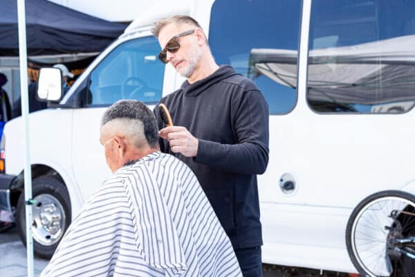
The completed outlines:
<svg viewBox="0 0 415 277">
<path fill-rule="evenodd" d="M 241 75 L 233 70 L 230 65 L 220 66 L 218 70 L 214 71 L 211 75 L 205 79 L 199 80 L 190 84 L 187 80 L 183 82 L 181 89 L 185 93 L 185 96 L 198 96 L 200 93 L 208 89 L 212 84 L 220 82 L 233 75 Z"/>
</svg>

